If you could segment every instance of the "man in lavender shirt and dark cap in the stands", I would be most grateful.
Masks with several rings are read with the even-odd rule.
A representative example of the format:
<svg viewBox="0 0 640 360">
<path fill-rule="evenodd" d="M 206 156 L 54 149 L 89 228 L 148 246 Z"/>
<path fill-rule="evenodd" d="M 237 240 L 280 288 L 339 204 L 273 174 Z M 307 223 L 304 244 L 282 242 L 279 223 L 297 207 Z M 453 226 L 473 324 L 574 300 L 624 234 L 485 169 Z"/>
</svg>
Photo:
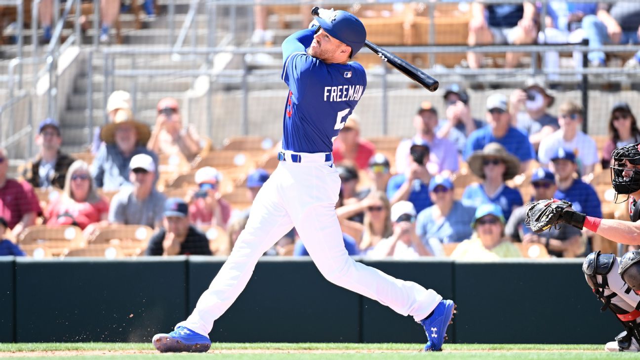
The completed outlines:
<svg viewBox="0 0 640 360">
<path fill-rule="evenodd" d="M 422 101 L 417 114 L 413 117 L 415 135 L 398 144 L 396 149 L 396 172 L 404 173 L 410 165 L 409 152 L 413 143 L 424 143 L 429 147 L 426 167 L 429 174 L 449 176 L 458 171 L 458 153 L 452 152 L 454 143 L 436 136 L 438 112 L 429 101 Z"/>
</svg>

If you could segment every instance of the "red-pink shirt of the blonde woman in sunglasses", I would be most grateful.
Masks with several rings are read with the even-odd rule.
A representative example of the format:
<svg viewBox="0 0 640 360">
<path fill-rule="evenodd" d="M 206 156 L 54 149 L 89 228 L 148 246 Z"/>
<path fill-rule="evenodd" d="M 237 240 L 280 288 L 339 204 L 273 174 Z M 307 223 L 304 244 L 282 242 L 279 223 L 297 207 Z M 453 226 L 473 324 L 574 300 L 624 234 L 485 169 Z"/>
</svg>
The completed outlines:
<svg viewBox="0 0 640 360">
<path fill-rule="evenodd" d="M 106 197 L 93 204 L 89 202 L 76 202 L 60 196 L 53 200 L 45 210 L 44 216 L 47 218 L 47 225 L 72 225 L 74 222 L 84 229 L 89 224 L 99 222 L 103 215 L 109 213 L 109 202 Z M 70 215 L 70 217 L 60 217 L 60 215 Z"/>
</svg>

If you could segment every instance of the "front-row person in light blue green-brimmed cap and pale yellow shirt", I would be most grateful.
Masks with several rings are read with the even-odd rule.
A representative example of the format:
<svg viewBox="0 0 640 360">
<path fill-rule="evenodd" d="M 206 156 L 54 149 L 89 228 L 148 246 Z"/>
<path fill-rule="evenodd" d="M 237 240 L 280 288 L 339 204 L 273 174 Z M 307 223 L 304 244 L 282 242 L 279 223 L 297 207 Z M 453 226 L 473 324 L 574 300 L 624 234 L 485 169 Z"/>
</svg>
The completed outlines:
<svg viewBox="0 0 640 360">
<path fill-rule="evenodd" d="M 495 261 L 500 258 L 520 258 L 520 251 L 504 237 L 504 216 L 496 204 L 482 204 L 476 209 L 469 240 L 462 241 L 451 254 L 456 260 Z"/>
</svg>

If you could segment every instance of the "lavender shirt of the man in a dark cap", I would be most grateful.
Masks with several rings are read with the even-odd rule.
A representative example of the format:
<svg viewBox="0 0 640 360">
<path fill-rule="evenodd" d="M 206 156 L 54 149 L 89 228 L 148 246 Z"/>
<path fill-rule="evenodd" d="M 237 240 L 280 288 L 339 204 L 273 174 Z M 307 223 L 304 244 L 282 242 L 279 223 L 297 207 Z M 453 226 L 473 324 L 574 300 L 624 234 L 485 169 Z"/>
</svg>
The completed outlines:
<svg viewBox="0 0 640 360">
<path fill-rule="evenodd" d="M 398 144 L 396 149 L 396 174 L 403 174 L 408 170 L 409 150 L 414 139 L 417 142 L 424 141 L 422 138 L 414 136 Z M 433 142 L 427 143 L 429 145 L 429 161 L 427 161 L 426 165 L 429 174 L 440 174 L 444 170 L 448 170 L 451 173 L 458 171 L 458 151 L 454 143 L 438 137 L 434 137 Z"/>
</svg>

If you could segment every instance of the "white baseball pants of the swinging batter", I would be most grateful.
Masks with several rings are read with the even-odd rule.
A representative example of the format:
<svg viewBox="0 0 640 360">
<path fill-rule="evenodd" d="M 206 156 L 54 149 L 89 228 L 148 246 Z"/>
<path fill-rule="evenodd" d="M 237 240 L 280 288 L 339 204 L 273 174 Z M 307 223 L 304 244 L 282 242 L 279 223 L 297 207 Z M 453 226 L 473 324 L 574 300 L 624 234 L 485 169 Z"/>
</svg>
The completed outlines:
<svg viewBox="0 0 640 360">
<path fill-rule="evenodd" d="M 418 322 L 442 297 L 419 284 L 395 279 L 349 258 L 335 215 L 340 177 L 325 154 L 300 154 L 293 163 L 285 152 L 255 198 L 249 220 L 225 264 L 186 321 L 179 323 L 207 335 L 214 321 L 233 304 L 249 281 L 255 264 L 292 227 L 300 234 L 321 274 L 343 288 L 378 300 Z"/>
</svg>

